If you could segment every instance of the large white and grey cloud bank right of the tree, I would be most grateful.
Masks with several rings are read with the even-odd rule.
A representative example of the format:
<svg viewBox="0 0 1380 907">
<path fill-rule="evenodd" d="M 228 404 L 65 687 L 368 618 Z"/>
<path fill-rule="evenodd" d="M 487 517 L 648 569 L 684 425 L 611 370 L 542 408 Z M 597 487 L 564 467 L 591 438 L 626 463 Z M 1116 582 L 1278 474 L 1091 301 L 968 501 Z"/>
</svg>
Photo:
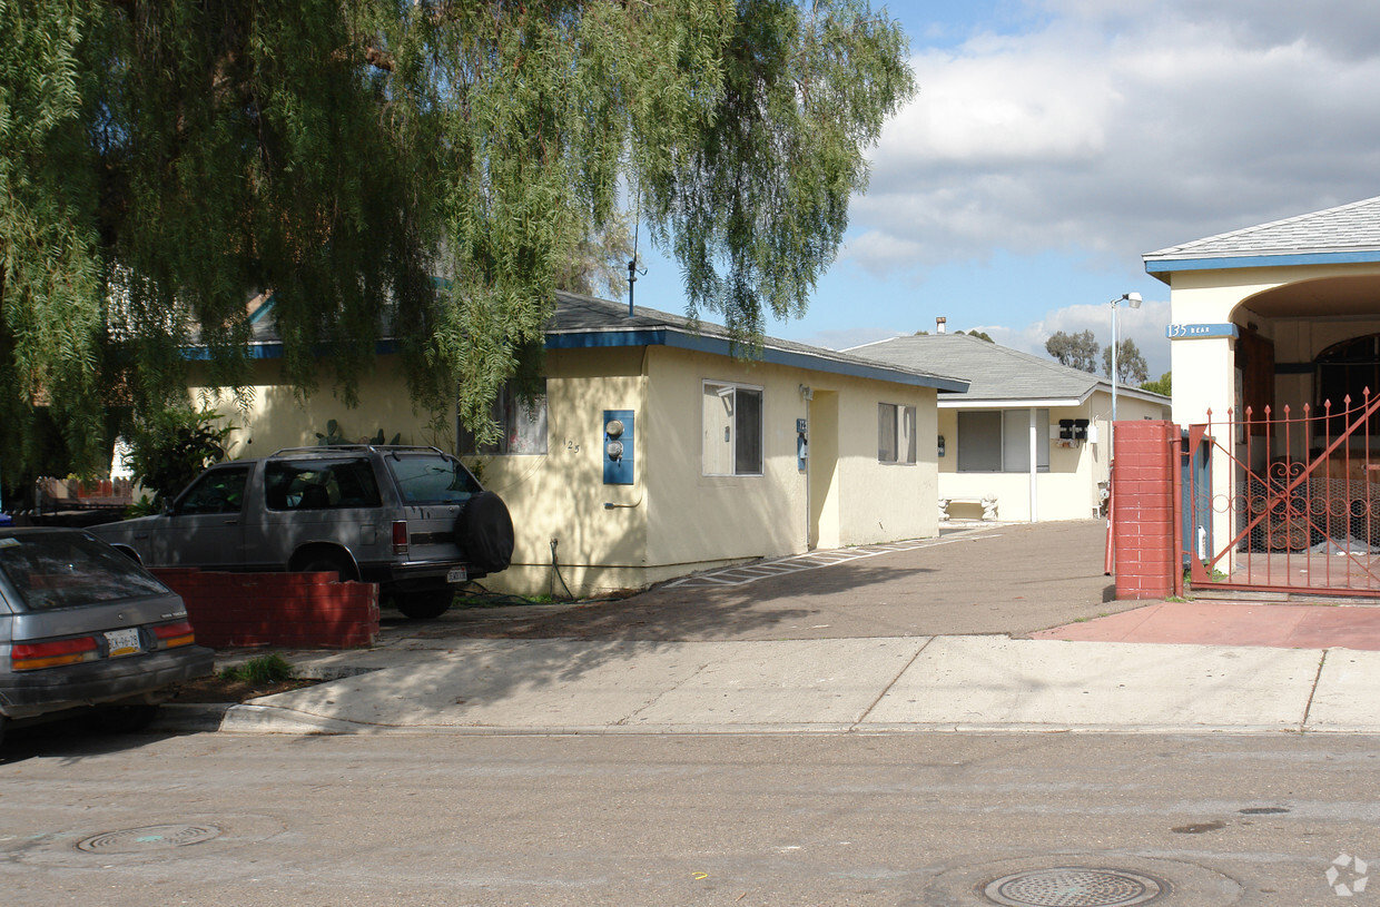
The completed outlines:
<svg viewBox="0 0 1380 907">
<path fill-rule="evenodd" d="M 1085 250 L 1125 266 L 1380 192 L 1373 1 L 1043 8 L 1039 30 L 919 50 L 846 260 L 889 273 Z"/>
</svg>

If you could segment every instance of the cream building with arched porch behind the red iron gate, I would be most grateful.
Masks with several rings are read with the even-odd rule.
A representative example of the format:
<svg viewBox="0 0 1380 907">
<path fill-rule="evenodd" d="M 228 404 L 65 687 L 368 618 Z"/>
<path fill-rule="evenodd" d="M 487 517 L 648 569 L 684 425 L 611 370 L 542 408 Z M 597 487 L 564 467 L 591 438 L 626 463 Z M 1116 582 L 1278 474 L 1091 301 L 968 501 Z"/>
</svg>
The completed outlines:
<svg viewBox="0 0 1380 907">
<path fill-rule="evenodd" d="M 1219 566 L 1231 573 L 1242 552 L 1369 536 L 1374 503 L 1365 489 L 1380 475 L 1370 465 L 1380 420 L 1359 410 L 1380 391 L 1380 197 L 1172 246 L 1144 261 L 1170 287 L 1173 420 L 1210 424 L 1217 451 L 1212 508 L 1208 498 L 1202 507 L 1212 544 L 1199 558 L 1228 547 Z M 1265 514 L 1263 483 L 1303 469 L 1357 482 L 1348 490 L 1296 482 L 1294 503 L 1276 501 L 1281 514 Z M 1322 496 L 1299 503 L 1319 487 Z"/>
</svg>

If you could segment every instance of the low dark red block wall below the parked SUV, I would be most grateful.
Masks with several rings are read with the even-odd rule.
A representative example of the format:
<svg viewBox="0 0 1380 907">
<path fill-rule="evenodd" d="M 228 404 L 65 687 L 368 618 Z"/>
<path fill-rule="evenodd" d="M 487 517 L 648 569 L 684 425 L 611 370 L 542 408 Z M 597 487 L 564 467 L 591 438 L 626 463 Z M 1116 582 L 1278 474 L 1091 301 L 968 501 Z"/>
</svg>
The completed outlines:
<svg viewBox="0 0 1380 907">
<path fill-rule="evenodd" d="M 355 649 L 378 642 L 378 585 L 335 573 L 150 570 L 186 602 L 196 641 L 213 649 Z"/>
</svg>

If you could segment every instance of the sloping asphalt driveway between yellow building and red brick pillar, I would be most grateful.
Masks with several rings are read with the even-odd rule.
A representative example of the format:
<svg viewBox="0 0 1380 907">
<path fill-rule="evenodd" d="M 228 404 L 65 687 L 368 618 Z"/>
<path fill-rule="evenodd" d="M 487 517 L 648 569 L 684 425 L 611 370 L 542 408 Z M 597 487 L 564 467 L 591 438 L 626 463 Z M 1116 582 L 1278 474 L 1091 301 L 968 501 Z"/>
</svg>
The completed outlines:
<svg viewBox="0 0 1380 907">
<path fill-rule="evenodd" d="M 1100 520 L 945 530 L 940 538 L 909 543 L 908 549 L 854 549 L 850 559 L 831 566 L 745 584 L 730 584 L 745 577 L 736 570 L 614 602 L 458 607 L 435 621 L 435 632 L 686 642 L 1027 636 L 1137 605 L 1111 601 L 1112 578 L 1103 574 L 1105 530 Z M 802 566 L 802 560 L 805 566 L 811 562 L 788 559 L 778 566 Z M 389 628 L 402 630 L 400 620 L 385 612 L 385 635 Z M 417 630 L 408 621 L 407 632 Z"/>
</svg>

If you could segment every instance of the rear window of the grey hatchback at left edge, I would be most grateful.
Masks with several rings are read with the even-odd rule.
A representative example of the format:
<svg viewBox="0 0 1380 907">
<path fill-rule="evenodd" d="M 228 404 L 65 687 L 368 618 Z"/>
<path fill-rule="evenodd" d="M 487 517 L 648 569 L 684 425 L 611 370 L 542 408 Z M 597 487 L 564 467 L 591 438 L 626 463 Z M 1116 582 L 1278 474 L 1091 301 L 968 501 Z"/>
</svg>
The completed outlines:
<svg viewBox="0 0 1380 907">
<path fill-rule="evenodd" d="M 0 536 L 0 573 L 28 610 L 171 594 L 115 548 L 72 531 Z"/>
</svg>

